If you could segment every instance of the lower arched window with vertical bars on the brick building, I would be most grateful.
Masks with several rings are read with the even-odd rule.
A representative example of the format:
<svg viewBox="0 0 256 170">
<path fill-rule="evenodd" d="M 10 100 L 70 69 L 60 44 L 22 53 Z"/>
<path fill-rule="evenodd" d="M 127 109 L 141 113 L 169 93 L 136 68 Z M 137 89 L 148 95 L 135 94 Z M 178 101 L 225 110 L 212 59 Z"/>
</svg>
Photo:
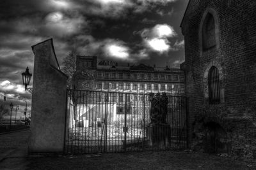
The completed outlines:
<svg viewBox="0 0 256 170">
<path fill-rule="evenodd" d="M 212 66 L 208 73 L 209 104 L 220 103 L 220 76 L 217 67 Z"/>
</svg>

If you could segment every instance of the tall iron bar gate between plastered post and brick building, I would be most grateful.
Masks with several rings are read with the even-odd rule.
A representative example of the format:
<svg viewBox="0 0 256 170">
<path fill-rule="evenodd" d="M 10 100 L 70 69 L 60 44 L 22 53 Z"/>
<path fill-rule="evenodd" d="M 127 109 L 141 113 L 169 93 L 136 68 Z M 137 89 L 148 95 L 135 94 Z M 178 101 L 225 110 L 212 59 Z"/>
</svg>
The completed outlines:
<svg viewBox="0 0 256 170">
<path fill-rule="evenodd" d="M 186 148 L 186 97 L 168 96 L 168 145 L 150 145 L 148 94 L 67 90 L 65 153 Z"/>
</svg>

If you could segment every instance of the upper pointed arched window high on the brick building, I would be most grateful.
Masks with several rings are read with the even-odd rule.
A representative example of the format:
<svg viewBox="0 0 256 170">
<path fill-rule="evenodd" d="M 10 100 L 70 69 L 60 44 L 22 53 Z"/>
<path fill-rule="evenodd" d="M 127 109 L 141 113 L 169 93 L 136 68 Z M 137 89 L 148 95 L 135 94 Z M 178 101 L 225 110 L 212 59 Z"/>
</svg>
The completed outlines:
<svg viewBox="0 0 256 170">
<path fill-rule="evenodd" d="M 204 19 L 202 39 L 202 47 L 204 51 L 216 46 L 215 22 L 211 13 L 207 13 Z"/>
</svg>

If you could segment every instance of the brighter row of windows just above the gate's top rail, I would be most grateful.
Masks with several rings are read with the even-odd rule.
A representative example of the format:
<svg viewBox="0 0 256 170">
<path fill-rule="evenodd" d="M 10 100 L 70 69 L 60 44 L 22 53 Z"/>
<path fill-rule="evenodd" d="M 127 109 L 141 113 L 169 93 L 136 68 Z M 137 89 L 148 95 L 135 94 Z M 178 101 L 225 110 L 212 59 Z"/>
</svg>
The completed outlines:
<svg viewBox="0 0 256 170">
<path fill-rule="evenodd" d="M 139 88 L 139 87 L 140 88 Z M 116 88 L 116 83 L 104 83 L 104 86 L 102 87 L 102 83 L 97 83 L 97 89 L 117 89 Z M 118 89 L 124 89 L 124 90 L 159 90 L 159 84 L 144 84 L 144 83 L 132 83 L 132 88 L 131 88 L 131 83 L 118 83 Z M 160 90 L 178 90 L 178 85 L 172 85 L 172 84 L 160 84 Z M 185 86 L 180 85 L 180 91 L 185 91 Z"/>
</svg>

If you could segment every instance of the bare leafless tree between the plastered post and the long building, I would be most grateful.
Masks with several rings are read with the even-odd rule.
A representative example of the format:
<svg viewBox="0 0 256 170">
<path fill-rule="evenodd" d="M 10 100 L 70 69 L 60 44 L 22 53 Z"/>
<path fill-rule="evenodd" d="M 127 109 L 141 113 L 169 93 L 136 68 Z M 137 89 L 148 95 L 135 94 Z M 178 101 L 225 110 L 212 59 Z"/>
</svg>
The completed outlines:
<svg viewBox="0 0 256 170">
<path fill-rule="evenodd" d="M 68 52 L 65 57 L 63 64 L 63 71 L 68 76 L 67 87 L 68 89 L 76 89 L 75 81 L 76 81 L 76 48 L 73 48 L 70 52 Z"/>
</svg>

